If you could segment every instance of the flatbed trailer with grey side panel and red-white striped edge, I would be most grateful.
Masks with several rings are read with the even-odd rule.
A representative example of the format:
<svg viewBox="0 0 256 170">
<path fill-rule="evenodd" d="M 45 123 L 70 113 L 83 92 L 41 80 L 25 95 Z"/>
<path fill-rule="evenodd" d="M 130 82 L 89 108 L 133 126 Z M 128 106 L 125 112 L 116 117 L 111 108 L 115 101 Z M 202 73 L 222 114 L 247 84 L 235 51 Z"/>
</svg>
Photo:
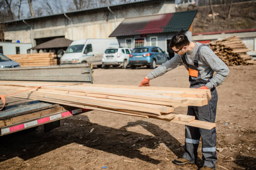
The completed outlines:
<svg viewBox="0 0 256 170">
<path fill-rule="evenodd" d="M 0 80 L 93 83 L 92 64 L 0 69 Z M 1 95 L 1 92 L 0 92 Z M 60 120 L 90 110 L 39 100 L 5 97 L 0 101 L 0 136 L 44 125 L 44 132 L 60 127 Z"/>
</svg>

